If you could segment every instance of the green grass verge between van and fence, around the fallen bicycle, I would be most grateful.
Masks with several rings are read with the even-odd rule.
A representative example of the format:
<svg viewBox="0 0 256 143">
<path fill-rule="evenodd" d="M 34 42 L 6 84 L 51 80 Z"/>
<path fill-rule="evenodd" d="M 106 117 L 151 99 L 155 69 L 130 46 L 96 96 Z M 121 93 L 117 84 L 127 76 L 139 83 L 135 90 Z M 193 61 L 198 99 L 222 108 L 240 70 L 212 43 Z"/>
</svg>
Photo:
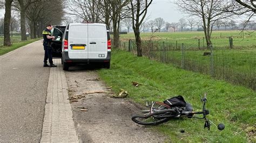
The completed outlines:
<svg viewBox="0 0 256 143">
<path fill-rule="evenodd" d="M 111 69 L 99 71 L 100 77 L 114 92 L 127 90 L 134 102 L 164 101 L 183 95 L 194 110 L 201 109 L 199 94 L 208 93 L 207 108 L 209 119 L 224 123 L 226 128 L 219 131 L 212 126 L 204 130 L 204 121 L 199 119 L 175 119 L 167 124 L 155 126 L 156 130 L 168 135 L 173 142 L 247 142 L 256 141 L 254 101 L 256 93 L 248 88 L 235 86 L 210 76 L 178 69 L 157 61 L 138 58 L 124 51 L 113 51 Z M 143 83 L 134 87 L 131 82 Z M 134 123 L 135 124 L 135 123 Z M 181 129 L 185 133 L 180 133 Z"/>
</svg>

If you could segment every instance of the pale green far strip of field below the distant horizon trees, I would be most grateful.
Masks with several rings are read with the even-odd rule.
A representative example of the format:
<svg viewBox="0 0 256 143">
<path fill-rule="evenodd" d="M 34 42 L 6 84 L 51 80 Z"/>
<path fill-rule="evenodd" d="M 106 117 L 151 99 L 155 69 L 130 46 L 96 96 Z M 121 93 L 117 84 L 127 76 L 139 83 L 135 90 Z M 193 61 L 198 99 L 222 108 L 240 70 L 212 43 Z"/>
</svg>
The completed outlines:
<svg viewBox="0 0 256 143">
<path fill-rule="evenodd" d="M 198 46 L 198 39 L 200 39 L 201 47 L 206 46 L 206 41 L 203 37 L 204 32 L 155 32 L 155 33 L 140 33 L 142 40 L 161 40 L 178 44 L 184 43 L 187 46 Z M 228 37 L 233 38 L 234 47 L 256 47 L 256 32 L 252 31 L 213 31 L 212 43 L 215 47 L 228 47 Z M 122 34 L 120 35 L 122 41 L 134 39 L 134 34 Z"/>
</svg>

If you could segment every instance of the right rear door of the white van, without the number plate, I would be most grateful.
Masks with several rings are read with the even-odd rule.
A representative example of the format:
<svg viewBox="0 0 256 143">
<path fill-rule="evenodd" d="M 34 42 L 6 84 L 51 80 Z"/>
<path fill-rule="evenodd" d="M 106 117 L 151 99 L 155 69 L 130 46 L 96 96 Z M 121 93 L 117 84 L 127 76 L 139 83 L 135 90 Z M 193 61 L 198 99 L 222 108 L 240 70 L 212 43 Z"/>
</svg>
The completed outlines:
<svg viewBox="0 0 256 143">
<path fill-rule="evenodd" d="M 105 24 L 88 24 L 88 58 L 106 59 L 107 31 Z"/>
</svg>

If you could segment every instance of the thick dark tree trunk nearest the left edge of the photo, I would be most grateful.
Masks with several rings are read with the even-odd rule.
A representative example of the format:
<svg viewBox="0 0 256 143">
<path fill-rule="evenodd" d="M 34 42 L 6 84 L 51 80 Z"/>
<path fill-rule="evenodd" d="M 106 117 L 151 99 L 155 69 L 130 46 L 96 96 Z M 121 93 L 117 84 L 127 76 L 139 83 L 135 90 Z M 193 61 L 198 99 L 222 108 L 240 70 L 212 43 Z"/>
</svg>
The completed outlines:
<svg viewBox="0 0 256 143">
<path fill-rule="evenodd" d="M 5 1 L 4 13 L 4 46 L 11 46 L 10 39 L 10 20 L 11 20 L 11 3 L 13 0 Z"/>
</svg>

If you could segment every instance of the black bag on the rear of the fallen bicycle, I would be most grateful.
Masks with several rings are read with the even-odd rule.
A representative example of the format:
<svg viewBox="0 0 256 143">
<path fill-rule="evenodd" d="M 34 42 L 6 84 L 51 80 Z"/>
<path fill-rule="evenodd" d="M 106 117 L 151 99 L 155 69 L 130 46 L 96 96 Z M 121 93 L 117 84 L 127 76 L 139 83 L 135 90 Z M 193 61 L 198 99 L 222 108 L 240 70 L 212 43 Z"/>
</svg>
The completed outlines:
<svg viewBox="0 0 256 143">
<path fill-rule="evenodd" d="M 169 105 L 170 107 L 185 107 L 186 102 L 182 96 L 172 97 L 164 101 L 165 104 Z"/>
</svg>

